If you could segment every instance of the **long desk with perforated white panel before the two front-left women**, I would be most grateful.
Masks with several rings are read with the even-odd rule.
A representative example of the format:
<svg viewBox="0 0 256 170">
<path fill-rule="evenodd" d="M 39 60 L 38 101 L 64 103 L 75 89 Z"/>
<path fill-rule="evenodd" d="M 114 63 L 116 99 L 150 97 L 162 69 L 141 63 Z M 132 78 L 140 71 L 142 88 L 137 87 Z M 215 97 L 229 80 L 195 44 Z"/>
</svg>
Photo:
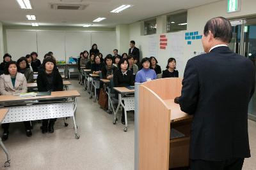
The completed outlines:
<svg viewBox="0 0 256 170">
<path fill-rule="evenodd" d="M 9 111 L 3 123 L 42 120 L 48 118 L 73 117 L 75 137 L 79 139 L 76 125 L 77 90 L 51 92 L 51 96 L 19 97 L 12 95 L 0 96 L 0 107 Z M 49 99 L 62 99 L 49 101 Z"/>
</svg>

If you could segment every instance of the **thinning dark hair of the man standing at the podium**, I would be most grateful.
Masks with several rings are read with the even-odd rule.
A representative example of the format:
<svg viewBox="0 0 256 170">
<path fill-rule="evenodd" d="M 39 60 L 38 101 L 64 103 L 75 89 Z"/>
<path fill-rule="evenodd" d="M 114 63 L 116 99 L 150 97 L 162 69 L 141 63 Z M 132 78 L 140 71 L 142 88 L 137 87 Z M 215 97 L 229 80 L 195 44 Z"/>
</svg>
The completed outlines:
<svg viewBox="0 0 256 170">
<path fill-rule="evenodd" d="M 209 31 L 215 39 L 223 43 L 230 43 L 232 39 L 232 26 L 226 18 L 216 17 L 208 20 L 204 27 L 204 36 L 207 36 Z"/>
</svg>

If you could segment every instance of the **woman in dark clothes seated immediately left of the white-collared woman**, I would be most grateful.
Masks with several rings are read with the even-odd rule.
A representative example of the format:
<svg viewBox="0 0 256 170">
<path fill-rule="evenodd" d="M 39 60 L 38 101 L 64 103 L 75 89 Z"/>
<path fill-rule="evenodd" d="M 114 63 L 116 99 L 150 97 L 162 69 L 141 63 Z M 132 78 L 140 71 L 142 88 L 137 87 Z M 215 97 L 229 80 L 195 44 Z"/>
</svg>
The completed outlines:
<svg viewBox="0 0 256 170">
<path fill-rule="evenodd" d="M 114 72 L 116 71 L 116 67 L 113 66 L 112 62 L 112 55 L 111 54 L 108 54 L 105 59 L 104 59 L 104 63 L 105 63 L 105 66 L 102 67 L 101 69 L 101 73 L 102 73 L 102 78 L 104 79 L 108 79 L 110 80 L 111 78 L 113 78 L 113 74 Z"/>
</svg>

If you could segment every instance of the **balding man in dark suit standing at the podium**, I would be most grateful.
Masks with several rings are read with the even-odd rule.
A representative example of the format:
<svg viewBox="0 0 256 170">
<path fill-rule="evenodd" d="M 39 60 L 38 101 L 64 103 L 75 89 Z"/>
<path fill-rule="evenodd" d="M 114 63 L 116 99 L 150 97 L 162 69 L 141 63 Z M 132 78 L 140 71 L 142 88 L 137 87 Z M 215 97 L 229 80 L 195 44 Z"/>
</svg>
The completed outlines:
<svg viewBox="0 0 256 170">
<path fill-rule="evenodd" d="M 255 88 L 253 62 L 232 52 L 232 27 L 216 17 L 204 27 L 205 54 L 188 60 L 175 103 L 189 115 L 191 170 L 242 169 L 250 157 L 248 103 Z"/>
</svg>

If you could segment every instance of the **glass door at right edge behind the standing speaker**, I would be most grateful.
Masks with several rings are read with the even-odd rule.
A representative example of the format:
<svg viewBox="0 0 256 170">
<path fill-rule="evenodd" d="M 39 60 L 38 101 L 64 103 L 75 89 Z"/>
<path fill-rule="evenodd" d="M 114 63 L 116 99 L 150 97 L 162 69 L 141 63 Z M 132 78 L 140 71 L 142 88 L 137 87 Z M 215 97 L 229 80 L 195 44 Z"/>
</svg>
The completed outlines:
<svg viewBox="0 0 256 170">
<path fill-rule="evenodd" d="M 256 18 L 233 20 L 230 23 L 233 36 L 228 46 L 234 52 L 252 60 L 256 66 Z M 256 94 L 249 103 L 248 118 L 256 121 Z"/>
</svg>

